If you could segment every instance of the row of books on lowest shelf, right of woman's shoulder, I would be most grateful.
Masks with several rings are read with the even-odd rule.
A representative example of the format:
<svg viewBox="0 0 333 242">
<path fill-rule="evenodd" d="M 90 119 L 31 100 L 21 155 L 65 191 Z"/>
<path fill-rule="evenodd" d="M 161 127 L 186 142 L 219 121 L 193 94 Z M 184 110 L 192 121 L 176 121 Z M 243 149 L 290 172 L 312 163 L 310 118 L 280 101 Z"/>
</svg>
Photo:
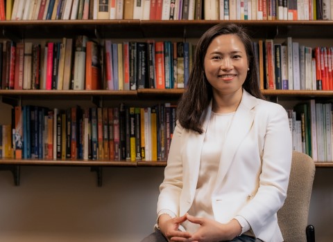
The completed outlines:
<svg viewBox="0 0 333 242">
<path fill-rule="evenodd" d="M 332 162 L 333 103 L 302 102 L 287 109 L 293 149 L 319 162 Z"/>
</svg>

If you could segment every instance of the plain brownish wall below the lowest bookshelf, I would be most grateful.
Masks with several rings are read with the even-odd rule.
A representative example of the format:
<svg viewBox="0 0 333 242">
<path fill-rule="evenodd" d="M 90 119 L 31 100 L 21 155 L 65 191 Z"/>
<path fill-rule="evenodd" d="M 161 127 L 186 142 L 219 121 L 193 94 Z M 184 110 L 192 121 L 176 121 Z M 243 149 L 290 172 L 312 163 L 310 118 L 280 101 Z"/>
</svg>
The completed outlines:
<svg viewBox="0 0 333 242">
<path fill-rule="evenodd" d="M 22 166 L 15 187 L 0 172 L 0 241 L 139 242 L 153 230 L 162 167 L 105 167 L 103 186 L 89 167 Z M 332 241 L 333 170 L 317 169 L 309 223 Z"/>
</svg>

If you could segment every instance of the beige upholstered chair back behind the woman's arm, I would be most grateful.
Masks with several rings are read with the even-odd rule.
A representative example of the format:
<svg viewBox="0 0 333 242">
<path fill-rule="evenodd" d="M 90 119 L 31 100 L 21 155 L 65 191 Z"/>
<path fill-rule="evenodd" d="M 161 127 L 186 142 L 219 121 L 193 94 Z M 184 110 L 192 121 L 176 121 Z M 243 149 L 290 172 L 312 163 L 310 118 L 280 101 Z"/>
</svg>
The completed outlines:
<svg viewBox="0 0 333 242">
<path fill-rule="evenodd" d="M 293 151 L 287 198 L 278 211 L 278 223 L 286 242 L 315 241 L 314 226 L 307 223 L 315 171 L 310 156 Z"/>
</svg>

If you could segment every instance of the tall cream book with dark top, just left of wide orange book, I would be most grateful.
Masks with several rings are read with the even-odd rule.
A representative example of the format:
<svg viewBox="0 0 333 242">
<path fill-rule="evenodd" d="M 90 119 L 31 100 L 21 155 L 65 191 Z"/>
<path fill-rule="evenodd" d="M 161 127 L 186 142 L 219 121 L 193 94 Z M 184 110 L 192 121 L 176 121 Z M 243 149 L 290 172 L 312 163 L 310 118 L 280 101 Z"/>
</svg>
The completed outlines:
<svg viewBox="0 0 333 242">
<path fill-rule="evenodd" d="M 85 55 L 87 48 L 87 36 L 76 37 L 74 56 L 74 90 L 85 89 Z"/>
</svg>

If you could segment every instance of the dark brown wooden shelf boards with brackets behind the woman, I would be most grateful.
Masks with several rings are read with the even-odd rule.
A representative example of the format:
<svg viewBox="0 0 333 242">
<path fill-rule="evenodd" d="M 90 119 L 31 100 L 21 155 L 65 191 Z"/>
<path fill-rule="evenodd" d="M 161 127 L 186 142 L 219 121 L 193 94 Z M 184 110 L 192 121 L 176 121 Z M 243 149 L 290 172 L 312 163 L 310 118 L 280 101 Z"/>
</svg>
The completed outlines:
<svg viewBox="0 0 333 242">
<path fill-rule="evenodd" d="M 0 21 L 0 39 L 60 39 L 62 37 L 76 37 L 87 35 L 95 39 L 154 39 L 180 38 L 198 39 L 200 35 L 221 21 L 215 20 L 178 20 L 178 21 L 148 21 L 148 20 L 36 20 L 36 21 Z M 333 21 L 232 21 L 242 24 L 250 30 L 255 39 L 286 38 L 313 39 L 312 32 L 316 32 L 316 39 L 333 39 Z M 94 104 L 101 102 L 176 102 L 183 89 L 138 89 L 137 91 L 58 91 L 58 90 L 0 90 L 1 102 L 14 106 L 21 102 L 71 102 L 89 101 Z M 333 100 L 333 91 L 290 91 L 263 90 L 264 95 L 273 102 L 288 102 L 288 100 Z M 286 101 L 287 100 L 287 101 Z M 10 115 L 8 113 L 8 115 Z M 50 165 L 50 166 L 87 166 L 87 167 L 164 167 L 166 161 L 112 161 L 112 160 L 19 160 L 15 158 L 1 158 L 0 166 L 9 166 L 15 177 L 19 177 L 20 165 Z M 14 167 L 14 168 L 13 168 Z M 333 167 L 333 162 L 316 162 L 316 167 Z M 97 171 L 98 178 L 101 172 Z"/>
</svg>

